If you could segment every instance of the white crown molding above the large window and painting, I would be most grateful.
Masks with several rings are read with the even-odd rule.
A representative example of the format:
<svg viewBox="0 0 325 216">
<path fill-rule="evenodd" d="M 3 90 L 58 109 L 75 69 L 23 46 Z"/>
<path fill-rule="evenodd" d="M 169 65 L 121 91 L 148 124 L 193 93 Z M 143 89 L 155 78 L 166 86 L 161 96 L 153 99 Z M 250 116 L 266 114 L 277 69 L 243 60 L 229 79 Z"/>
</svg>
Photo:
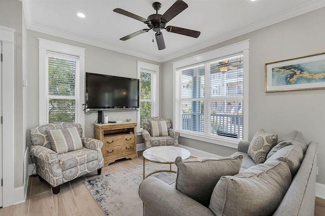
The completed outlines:
<svg viewBox="0 0 325 216">
<path fill-rule="evenodd" d="M 246 26 L 244 26 L 242 28 L 238 28 L 236 30 L 230 31 L 228 33 L 225 33 L 223 35 L 215 37 L 215 38 L 213 38 L 211 40 L 207 40 L 207 41 L 202 42 L 200 44 L 190 46 L 187 49 L 183 49 L 181 52 L 177 52 L 177 53 L 174 53 L 172 55 L 169 55 L 169 56 L 163 58 L 163 62 L 174 59 L 174 58 L 177 58 L 177 57 L 180 57 L 180 56 L 183 56 L 183 55 L 186 55 L 186 54 L 191 53 L 191 52 L 198 51 L 198 50 L 206 48 L 206 47 L 210 47 L 212 45 L 215 45 L 215 44 L 218 44 L 218 43 L 221 43 L 221 42 L 224 42 L 224 41 L 228 41 L 230 39 L 239 37 L 240 35 L 243 35 L 243 34 L 246 34 L 246 33 L 249 33 L 249 32 L 264 28 L 264 27 L 267 27 L 269 25 L 273 25 L 273 24 L 279 23 L 281 21 L 284 21 L 284 20 L 299 16 L 299 15 L 308 13 L 310 11 L 322 8 L 324 6 L 325 6 L 325 1 L 324 0 L 315 0 L 313 2 L 306 3 L 304 5 L 295 7 L 293 9 L 287 10 L 285 12 L 275 14 L 275 15 L 273 15 L 271 17 L 268 17 L 266 19 L 263 19 L 261 21 L 257 21 L 257 22 L 254 22 L 252 24 L 246 25 Z"/>
</svg>

